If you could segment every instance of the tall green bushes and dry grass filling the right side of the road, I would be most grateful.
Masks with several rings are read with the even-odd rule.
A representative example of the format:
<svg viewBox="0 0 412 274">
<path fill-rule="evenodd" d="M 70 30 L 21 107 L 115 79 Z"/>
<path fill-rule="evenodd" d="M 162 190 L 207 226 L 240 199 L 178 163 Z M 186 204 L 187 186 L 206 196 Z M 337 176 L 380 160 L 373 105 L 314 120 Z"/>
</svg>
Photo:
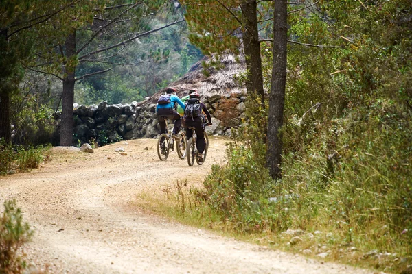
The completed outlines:
<svg viewBox="0 0 412 274">
<path fill-rule="evenodd" d="M 412 273 L 410 2 L 321 1 L 318 12 L 328 16 L 290 15 L 289 37 L 341 42 L 288 45 L 282 178 L 266 169 L 268 103 L 249 100 L 227 164 L 146 206 L 268 247 Z M 271 60 L 262 47 L 266 86 Z"/>
</svg>

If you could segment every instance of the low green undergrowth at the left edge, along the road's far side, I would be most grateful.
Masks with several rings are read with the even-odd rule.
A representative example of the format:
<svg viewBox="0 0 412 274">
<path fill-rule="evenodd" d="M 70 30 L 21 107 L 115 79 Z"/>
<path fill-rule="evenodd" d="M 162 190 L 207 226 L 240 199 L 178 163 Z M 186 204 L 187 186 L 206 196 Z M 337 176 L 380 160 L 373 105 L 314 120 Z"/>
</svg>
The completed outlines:
<svg viewBox="0 0 412 274">
<path fill-rule="evenodd" d="M 51 146 L 23 147 L 6 144 L 0 139 L 0 175 L 27 172 L 38 168 L 38 165 L 49 158 Z"/>
</svg>

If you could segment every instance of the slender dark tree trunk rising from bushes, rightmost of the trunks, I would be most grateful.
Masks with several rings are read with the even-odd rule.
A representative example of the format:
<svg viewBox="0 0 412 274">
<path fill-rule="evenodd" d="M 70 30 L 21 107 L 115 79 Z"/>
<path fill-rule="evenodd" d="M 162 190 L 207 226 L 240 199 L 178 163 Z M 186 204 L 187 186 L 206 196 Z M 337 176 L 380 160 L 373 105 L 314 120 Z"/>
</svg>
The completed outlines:
<svg viewBox="0 0 412 274">
<path fill-rule="evenodd" d="M 281 155 L 287 57 L 287 1 L 277 0 L 273 3 L 273 69 L 271 94 L 269 95 L 268 142 L 266 164 L 273 179 L 282 177 Z"/>
</svg>

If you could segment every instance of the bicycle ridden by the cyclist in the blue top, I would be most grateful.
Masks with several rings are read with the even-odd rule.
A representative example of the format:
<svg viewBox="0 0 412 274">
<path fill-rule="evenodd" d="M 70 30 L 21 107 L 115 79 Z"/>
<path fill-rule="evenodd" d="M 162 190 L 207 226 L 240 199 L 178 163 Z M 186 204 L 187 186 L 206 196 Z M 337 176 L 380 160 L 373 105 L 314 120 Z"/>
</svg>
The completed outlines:
<svg viewBox="0 0 412 274">
<path fill-rule="evenodd" d="M 168 130 L 168 120 L 167 117 L 165 118 L 166 122 L 166 133 L 160 134 L 159 138 L 157 139 L 157 155 L 159 159 L 165 161 L 168 159 L 170 149 L 174 151 L 174 138 L 172 138 L 172 131 Z M 186 157 L 186 134 L 183 129 L 180 130 L 179 134 L 177 134 L 176 138 L 176 151 L 177 155 L 181 159 L 185 159 Z"/>
</svg>

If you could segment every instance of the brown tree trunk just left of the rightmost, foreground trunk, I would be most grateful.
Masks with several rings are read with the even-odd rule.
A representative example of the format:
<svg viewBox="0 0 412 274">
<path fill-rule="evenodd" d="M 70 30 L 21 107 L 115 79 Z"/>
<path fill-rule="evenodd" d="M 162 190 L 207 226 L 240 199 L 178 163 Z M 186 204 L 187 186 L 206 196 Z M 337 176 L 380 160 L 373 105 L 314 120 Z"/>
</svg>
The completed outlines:
<svg viewBox="0 0 412 274">
<path fill-rule="evenodd" d="M 244 23 L 242 38 L 247 66 L 246 87 L 249 96 L 252 98 L 260 97 L 262 108 L 264 108 L 262 58 L 260 56 L 256 0 L 243 0 L 240 8 L 242 9 L 242 20 Z"/>
</svg>

